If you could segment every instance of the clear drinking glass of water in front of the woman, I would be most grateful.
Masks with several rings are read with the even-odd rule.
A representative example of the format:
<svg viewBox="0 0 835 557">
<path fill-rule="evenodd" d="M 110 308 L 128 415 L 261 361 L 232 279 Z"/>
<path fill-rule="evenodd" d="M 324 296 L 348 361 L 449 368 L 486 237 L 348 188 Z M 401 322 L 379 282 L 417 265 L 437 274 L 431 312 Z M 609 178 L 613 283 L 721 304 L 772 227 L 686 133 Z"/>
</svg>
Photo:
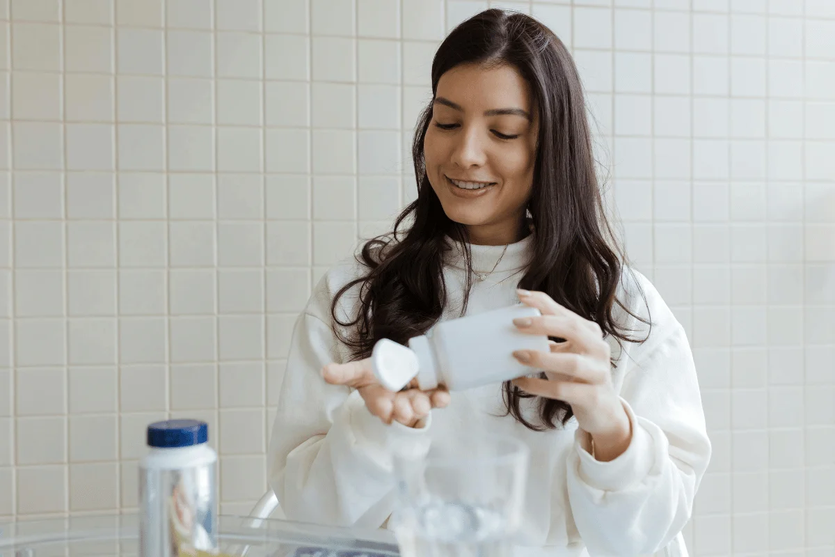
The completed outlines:
<svg viewBox="0 0 835 557">
<path fill-rule="evenodd" d="M 508 557 L 524 509 L 529 450 L 518 439 L 462 436 L 428 454 L 395 453 L 391 529 L 402 557 Z"/>
</svg>

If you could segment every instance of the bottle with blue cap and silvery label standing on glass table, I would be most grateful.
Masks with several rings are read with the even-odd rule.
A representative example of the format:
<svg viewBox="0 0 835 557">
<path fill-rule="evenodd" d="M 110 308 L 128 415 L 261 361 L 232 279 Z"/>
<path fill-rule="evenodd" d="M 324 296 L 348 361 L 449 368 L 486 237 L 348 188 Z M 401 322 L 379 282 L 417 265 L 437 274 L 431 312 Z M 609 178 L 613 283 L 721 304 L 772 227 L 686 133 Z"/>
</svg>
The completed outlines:
<svg viewBox="0 0 835 557">
<path fill-rule="evenodd" d="M 139 463 L 139 555 L 174 557 L 217 549 L 217 453 L 197 420 L 148 426 Z"/>
</svg>

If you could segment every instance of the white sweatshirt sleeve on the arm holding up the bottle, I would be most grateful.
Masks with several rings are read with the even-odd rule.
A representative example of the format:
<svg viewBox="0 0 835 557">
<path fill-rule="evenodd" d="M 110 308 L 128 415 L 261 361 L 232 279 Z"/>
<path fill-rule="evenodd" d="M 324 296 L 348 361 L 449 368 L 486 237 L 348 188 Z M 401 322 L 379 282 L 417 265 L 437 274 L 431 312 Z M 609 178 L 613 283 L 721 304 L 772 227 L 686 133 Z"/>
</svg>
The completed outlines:
<svg viewBox="0 0 835 557">
<path fill-rule="evenodd" d="M 569 455 L 574 524 L 595 556 L 654 554 L 669 544 L 691 517 L 711 457 L 684 328 L 643 281 L 653 327 L 620 362 L 626 365 L 620 397 L 630 445 L 600 462 L 590 452 L 590 435 L 578 430 Z"/>
</svg>

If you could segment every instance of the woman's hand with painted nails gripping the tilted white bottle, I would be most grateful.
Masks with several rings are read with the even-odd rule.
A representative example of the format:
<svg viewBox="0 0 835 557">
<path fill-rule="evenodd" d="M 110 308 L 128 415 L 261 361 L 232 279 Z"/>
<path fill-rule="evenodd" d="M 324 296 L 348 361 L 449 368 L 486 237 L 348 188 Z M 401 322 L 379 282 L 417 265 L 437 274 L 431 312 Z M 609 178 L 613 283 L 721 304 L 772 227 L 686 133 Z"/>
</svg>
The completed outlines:
<svg viewBox="0 0 835 557">
<path fill-rule="evenodd" d="M 519 362 L 543 370 L 548 377 L 519 377 L 514 385 L 524 392 L 568 403 L 579 428 L 594 439 L 595 458 L 616 458 L 629 446 L 630 420 L 612 384 L 611 349 L 600 326 L 560 306 L 544 292 L 517 293 L 519 301 L 542 314 L 515 319 L 519 332 L 560 337 L 565 342 L 550 342 L 550 352 L 514 352 Z"/>
</svg>

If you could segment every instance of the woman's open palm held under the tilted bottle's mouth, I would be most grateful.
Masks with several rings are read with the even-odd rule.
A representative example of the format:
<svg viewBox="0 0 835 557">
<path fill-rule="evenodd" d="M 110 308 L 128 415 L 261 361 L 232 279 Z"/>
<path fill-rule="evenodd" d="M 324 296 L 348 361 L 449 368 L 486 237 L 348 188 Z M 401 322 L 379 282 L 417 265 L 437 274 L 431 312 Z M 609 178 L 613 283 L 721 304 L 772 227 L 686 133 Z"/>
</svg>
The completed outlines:
<svg viewBox="0 0 835 557">
<path fill-rule="evenodd" d="M 426 418 L 433 408 L 444 408 L 449 404 L 449 392 L 446 387 L 422 391 L 412 380 L 402 391 L 387 390 L 377 381 L 377 377 L 374 377 L 371 358 L 356 362 L 329 363 L 322 368 L 321 375 L 331 385 L 345 385 L 357 389 L 368 411 L 387 424 L 398 422 L 410 428 L 421 427 L 423 418 Z"/>
</svg>

